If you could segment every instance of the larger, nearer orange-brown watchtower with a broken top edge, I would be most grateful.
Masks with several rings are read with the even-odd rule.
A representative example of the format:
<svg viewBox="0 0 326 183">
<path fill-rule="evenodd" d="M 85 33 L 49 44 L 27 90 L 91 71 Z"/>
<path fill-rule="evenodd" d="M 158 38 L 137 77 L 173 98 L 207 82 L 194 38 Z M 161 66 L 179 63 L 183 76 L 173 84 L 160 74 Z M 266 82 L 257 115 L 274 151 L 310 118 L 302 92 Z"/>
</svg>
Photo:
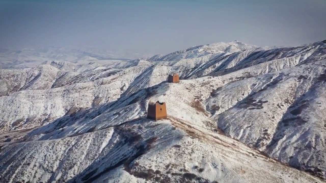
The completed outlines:
<svg viewBox="0 0 326 183">
<path fill-rule="evenodd" d="M 166 105 L 165 102 L 156 103 L 150 102 L 148 103 L 148 110 L 147 110 L 147 118 L 151 120 L 161 120 L 166 119 L 168 117 L 166 113 Z"/>
</svg>

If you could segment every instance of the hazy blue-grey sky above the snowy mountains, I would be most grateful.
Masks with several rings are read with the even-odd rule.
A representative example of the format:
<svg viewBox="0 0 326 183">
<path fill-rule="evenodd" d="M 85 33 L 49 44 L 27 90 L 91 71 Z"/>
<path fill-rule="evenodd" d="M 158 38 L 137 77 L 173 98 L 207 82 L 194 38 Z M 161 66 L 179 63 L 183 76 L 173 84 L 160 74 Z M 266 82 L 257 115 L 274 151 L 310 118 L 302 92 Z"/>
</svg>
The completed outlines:
<svg viewBox="0 0 326 183">
<path fill-rule="evenodd" d="M 325 0 L 0 0 L 0 48 L 295 46 L 325 40 L 325 17 Z"/>
</svg>

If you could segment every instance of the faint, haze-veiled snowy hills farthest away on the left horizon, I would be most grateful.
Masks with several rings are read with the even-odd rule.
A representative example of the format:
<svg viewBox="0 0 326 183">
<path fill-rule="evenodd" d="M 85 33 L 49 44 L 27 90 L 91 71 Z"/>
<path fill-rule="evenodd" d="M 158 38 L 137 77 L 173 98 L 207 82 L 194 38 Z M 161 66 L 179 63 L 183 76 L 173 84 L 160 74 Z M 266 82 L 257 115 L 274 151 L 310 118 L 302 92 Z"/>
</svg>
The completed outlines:
<svg viewBox="0 0 326 183">
<path fill-rule="evenodd" d="M 95 48 L 76 49 L 70 47 L 25 48 L 22 50 L 0 49 L 0 69 L 32 68 L 37 65 L 59 62 L 61 64 L 68 64 L 72 67 L 70 70 L 74 70 L 77 66 L 87 67 L 87 65 L 92 65 L 94 62 L 120 62 L 151 55 L 151 53 L 117 52 Z M 88 67 L 94 68 L 94 66 Z"/>
</svg>

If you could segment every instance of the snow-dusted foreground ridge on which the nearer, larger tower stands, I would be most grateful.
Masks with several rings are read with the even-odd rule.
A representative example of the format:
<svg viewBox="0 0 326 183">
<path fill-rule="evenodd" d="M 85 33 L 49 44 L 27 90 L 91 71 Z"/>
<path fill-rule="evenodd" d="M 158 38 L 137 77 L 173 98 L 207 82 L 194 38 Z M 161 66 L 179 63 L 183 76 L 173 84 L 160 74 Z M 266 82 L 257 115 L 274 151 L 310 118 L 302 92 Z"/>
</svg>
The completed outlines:
<svg viewBox="0 0 326 183">
<path fill-rule="evenodd" d="M 189 92 L 198 92 L 192 85 L 162 83 L 40 128 L 3 134 L 10 135 L 11 141 L 2 143 L 0 151 L 7 157 L 1 160 L 2 180 L 321 182 L 207 129 L 204 123 L 198 126 L 196 121 L 209 119 L 187 104 L 195 100 L 193 95 L 179 99 L 180 104 L 183 101 L 180 111 L 188 109 L 184 113 L 169 105 L 167 120 L 144 119 L 148 100 L 169 104 L 185 86 Z"/>
</svg>

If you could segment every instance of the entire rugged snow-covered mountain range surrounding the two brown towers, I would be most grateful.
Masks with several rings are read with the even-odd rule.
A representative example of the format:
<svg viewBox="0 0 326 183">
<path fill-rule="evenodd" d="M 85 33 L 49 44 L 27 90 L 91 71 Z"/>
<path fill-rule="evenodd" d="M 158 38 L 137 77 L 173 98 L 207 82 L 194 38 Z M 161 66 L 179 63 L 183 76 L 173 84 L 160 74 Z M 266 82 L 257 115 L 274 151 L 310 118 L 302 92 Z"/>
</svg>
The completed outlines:
<svg viewBox="0 0 326 183">
<path fill-rule="evenodd" d="M 325 182 L 326 40 L 80 58 L 0 70 L 1 182 Z"/>
</svg>

